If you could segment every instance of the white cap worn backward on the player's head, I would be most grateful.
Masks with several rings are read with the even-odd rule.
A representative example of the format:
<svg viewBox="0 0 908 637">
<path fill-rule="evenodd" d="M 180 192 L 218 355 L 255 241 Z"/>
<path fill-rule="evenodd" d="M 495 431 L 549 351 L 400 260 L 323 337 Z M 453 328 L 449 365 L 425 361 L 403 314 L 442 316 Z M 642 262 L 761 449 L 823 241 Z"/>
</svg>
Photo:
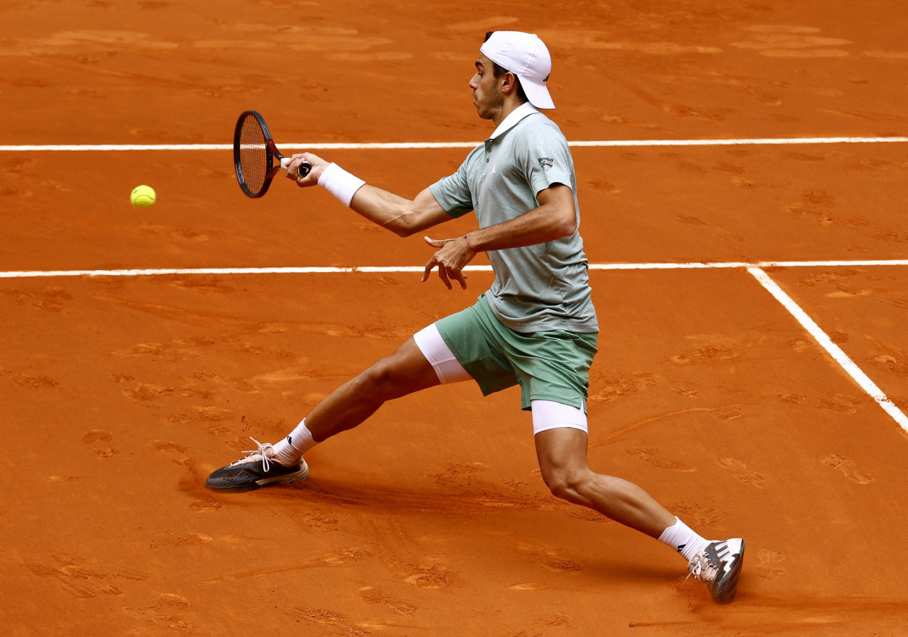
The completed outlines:
<svg viewBox="0 0 908 637">
<path fill-rule="evenodd" d="M 529 103 L 537 108 L 555 108 L 546 87 L 548 74 L 552 72 L 552 56 L 538 35 L 496 31 L 479 47 L 479 51 L 518 76 Z"/>
</svg>

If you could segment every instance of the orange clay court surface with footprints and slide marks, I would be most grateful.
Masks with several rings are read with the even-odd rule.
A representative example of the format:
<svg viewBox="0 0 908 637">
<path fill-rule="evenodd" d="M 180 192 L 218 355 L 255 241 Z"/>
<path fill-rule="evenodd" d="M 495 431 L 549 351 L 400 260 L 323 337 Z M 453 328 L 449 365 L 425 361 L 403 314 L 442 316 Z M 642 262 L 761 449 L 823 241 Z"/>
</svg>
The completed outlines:
<svg viewBox="0 0 908 637">
<path fill-rule="evenodd" d="M 516 389 L 405 397 L 304 483 L 206 491 L 492 275 L 420 283 L 419 237 L 282 178 L 249 200 L 229 151 L 24 148 L 227 144 L 249 108 L 296 150 L 479 143 L 467 83 L 495 28 L 546 40 L 571 142 L 906 135 L 902 2 L 23 0 L 0 22 L 0 632 L 908 632 L 908 143 L 574 149 L 602 266 L 590 464 L 745 538 L 727 607 L 548 494 Z M 468 149 L 316 152 L 413 196 Z M 896 416 L 758 272 L 614 268 L 694 262 L 762 264 Z M 398 270 L 226 271 L 372 266 Z M 200 268 L 225 271 L 37 276 Z"/>
</svg>

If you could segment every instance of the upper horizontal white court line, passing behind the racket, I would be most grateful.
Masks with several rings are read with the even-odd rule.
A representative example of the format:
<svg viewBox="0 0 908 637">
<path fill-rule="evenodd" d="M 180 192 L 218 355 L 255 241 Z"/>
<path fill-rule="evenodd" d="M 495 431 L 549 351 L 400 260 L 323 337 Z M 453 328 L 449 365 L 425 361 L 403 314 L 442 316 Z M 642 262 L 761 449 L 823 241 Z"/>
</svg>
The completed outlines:
<svg viewBox="0 0 908 637">
<path fill-rule="evenodd" d="M 778 144 L 813 143 L 904 143 L 908 137 L 792 137 L 755 138 L 739 140 L 603 140 L 594 142 L 568 142 L 578 148 L 590 146 L 758 146 Z M 282 143 L 283 149 L 309 149 L 313 151 L 475 148 L 481 142 L 395 142 L 395 143 Z M 172 144 L 20 144 L 0 146 L 0 152 L 42 151 L 231 151 L 228 143 L 172 143 Z"/>
</svg>

